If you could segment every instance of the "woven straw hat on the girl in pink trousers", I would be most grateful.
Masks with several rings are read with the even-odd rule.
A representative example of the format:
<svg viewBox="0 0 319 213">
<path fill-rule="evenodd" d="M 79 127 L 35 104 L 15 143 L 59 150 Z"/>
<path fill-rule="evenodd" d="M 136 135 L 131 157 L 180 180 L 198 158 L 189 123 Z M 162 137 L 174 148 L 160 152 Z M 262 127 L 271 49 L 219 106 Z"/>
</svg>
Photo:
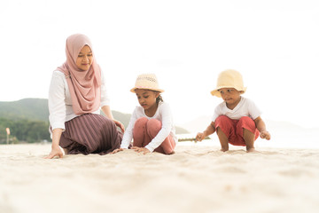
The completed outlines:
<svg viewBox="0 0 319 213">
<path fill-rule="evenodd" d="M 154 74 L 138 75 L 136 78 L 135 87 L 130 91 L 135 92 L 136 89 L 163 92 L 163 90 L 159 89 L 159 83 L 156 75 Z"/>
</svg>

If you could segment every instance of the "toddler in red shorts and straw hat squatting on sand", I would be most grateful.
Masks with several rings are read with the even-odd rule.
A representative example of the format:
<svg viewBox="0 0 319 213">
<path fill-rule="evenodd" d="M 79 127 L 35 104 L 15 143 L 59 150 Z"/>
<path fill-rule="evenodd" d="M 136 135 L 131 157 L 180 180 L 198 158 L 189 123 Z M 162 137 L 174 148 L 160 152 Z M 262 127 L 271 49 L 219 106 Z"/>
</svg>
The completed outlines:
<svg viewBox="0 0 319 213">
<path fill-rule="evenodd" d="M 259 136 L 270 139 L 259 108 L 241 96 L 245 91 L 242 75 L 236 70 L 228 69 L 218 76 L 217 87 L 211 94 L 224 101 L 215 107 L 213 121 L 206 130 L 197 134 L 198 141 L 217 131 L 222 152 L 229 150 L 230 143 L 246 146 L 249 153 L 255 151 L 253 144 Z"/>
</svg>

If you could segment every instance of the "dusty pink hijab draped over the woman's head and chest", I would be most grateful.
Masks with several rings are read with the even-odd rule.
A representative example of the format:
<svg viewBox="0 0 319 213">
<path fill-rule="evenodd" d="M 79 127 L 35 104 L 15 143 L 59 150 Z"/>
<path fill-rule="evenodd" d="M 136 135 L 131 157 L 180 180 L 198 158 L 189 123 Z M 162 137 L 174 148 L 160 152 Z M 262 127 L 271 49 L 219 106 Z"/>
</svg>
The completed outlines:
<svg viewBox="0 0 319 213">
<path fill-rule="evenodd" d="M 82 71 L 76 66 L 76 59 L 82 48 L 88 45 L 92 50 L 89 37 L 74 34 L 66 39 L 66 62 L 58 70 L 66 75 L 66 82 L 71 93 L 74 114 L 88 114 L 100 106 L 101 70 L 93 54 L 93 63 L 89 70 Z"/>
</svg>

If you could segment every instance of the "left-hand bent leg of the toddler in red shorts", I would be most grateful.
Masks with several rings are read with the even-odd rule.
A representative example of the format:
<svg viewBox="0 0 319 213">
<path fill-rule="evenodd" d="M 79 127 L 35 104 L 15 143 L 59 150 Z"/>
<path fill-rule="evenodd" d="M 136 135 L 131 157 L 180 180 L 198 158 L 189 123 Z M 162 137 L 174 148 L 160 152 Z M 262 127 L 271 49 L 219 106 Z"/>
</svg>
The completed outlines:
<svg viewBox="0 0 319 213">
<path fill-rule="evenodd" d="M 215 121 L 216 132 L 220 140 L 222 152 L 229 150 L 230 133 L 234 132 L 233 122 L 225 115 L 219 116 Z"/>
</svg>

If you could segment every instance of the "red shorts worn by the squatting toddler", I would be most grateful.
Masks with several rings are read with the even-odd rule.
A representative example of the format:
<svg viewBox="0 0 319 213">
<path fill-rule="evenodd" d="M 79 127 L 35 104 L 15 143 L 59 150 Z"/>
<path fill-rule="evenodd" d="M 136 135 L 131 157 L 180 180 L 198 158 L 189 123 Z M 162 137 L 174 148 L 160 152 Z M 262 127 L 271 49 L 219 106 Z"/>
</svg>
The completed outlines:
<svg viewBox="0 0 319 213">
<path fill-rule="evenodd" d="M 260 135 L 253 119 L 247 116 L 241 117 L 239 120 L 232 120 L 226 115 L 221 115 L 215 121 L 215 129 L 217 130 L 218 127 L 229 138 L 229 143 L 235 146 L 245 146 L 244 129 L 253 132 L 255 140 Z"/>
</svg>

